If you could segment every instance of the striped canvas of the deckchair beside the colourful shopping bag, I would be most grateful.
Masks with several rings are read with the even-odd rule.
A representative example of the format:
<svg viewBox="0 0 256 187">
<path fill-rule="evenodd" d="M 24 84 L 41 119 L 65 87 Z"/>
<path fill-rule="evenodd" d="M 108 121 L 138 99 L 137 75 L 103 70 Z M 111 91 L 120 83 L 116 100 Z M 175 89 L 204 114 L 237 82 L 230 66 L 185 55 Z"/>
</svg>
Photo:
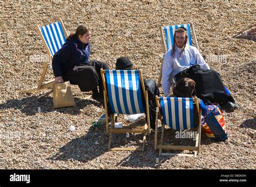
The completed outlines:
<svg viewBox="0 0 256 187">
<path fill-rule="evenodd" d="M 193 98 L 160 97 L 163 123 L 174 130 L 194 127 Z"/>
</svg>

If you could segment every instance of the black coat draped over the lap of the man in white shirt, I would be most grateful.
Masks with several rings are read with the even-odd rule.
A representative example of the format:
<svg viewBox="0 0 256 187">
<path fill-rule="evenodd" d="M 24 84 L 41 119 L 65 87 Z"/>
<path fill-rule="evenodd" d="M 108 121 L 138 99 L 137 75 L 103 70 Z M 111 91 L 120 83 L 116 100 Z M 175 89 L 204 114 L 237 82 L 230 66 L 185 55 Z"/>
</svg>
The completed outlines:
<svg viewBox="0 0 256 187">
<path fill-rule="evenodd" d="M 191 78 L 196 82 L 197 97 L 203 100 L 204 103 L 235 103 L 231 94 L 226 92 L 223 81 L 217 71 L 201 69 L 199 65 L 194 65 L 176 75 L 177 81 L 184 77 Z"/>
</svg>

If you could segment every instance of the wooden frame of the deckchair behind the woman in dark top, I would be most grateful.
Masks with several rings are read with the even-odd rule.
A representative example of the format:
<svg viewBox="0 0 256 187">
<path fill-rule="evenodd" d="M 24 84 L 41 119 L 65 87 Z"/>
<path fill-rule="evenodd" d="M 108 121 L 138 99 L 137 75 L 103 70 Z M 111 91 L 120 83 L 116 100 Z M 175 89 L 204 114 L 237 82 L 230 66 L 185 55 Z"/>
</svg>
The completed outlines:
<svg viewBox="0 0 256 187">
<path fill-rule="evenodd" d="M 68 33 L 66 32 L 66 28 L 65 28 L 65 26 L 64 26 L 64 24 L 62 22 L 62 19 L 58 18 L 58 21 L 60 22 L 60 25 L 62 26 L 62 30 L 64 32 L 65 38 L 68 38 Z M 46 71 L 48 69 L 48 65 L 49 65 L 50 61 L 52 61 L 52 57 L 53 56 L 52 56 L 52 54 L 50 52 L 50 49 L 48 48 L 48 46 L 46 44 L 46 41 L 45 41 L 45 39 L 43 37 L 41 29 L 40 29 L 40 27 L 38 25 L 36 26 L 36 30 L 37 30 L 41 40 L 43 41 L 43 45 L 44 45 L 44 47 L 46 49 L 48 57 L 45 60 L 43 73 L 42 73 L 42 75 L 41 75 L 41 77 L 39 79 L 37 87 L 33 87 L 33 88 L 29 89 L 29 90 L 23 90 L 22 91 L 23 93 L 29 93 L 29 92 L 33 92 L 33 91 L 43 90 L 43 89 L 46 89 L 46 88 L 51 88 L 53 86 L 53 83 L 55 82 L 54 79 L 51 80 L 51 81 L 48 81 L 48 82 L 43 82 L 45 74 L 46 74 Z"/>
</svg>

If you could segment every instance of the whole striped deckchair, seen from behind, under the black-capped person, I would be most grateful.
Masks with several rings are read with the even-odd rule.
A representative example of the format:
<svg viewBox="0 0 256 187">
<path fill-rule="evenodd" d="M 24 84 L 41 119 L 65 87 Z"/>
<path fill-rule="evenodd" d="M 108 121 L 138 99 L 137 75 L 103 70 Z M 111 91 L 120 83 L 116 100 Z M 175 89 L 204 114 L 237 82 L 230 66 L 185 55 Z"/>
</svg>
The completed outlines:
<svg viewBox="0 0 256 187">
<path fill-rule="evenodd" d="M 111 126 L 106 123 L 106 131 L 110 133 L 109 150 L 144 150 L 146 133 L 150 133 L 149 103 L 145 90 L 142 73 L 140 70 L 101 70 L 104 85 L 105 116 L 108 121 L 107 110 L 117 114 L 147 113 L 145 126 L 126 126 L 126 128 L 114 128 L 113 114 L 111 114 Z M 143 97 L 144 96 L 144 97 Z M 143 108 L 143 99 L 146 111 Z M 107 107 L 109 105 L 109 107 Z M 112 133 L 143 133 L 142 148 L 112 148 Z"/>
</svg>

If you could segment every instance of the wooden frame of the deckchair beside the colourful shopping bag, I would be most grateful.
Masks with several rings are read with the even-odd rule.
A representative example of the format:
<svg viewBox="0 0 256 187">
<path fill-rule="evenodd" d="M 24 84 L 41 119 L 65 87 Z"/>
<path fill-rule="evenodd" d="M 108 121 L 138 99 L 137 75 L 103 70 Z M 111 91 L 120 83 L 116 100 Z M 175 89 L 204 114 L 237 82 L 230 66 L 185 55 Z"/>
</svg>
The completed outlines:
<svg viewBox="0 0 256 187">
<path fill-rule="evenodd" d="M 196 135 L 196 146 L 171 146 L 171 145 L 163 145 L 163 138 L 164 138 L 164 130 L 165 125 L 163 123 L 163 114 L 161 113 L 160 109 L 160 103 L 159 103 L 160 97 L 156 96 L 156 102 L 157 102 L 157 114 L 156 114 L 156 129 L 158 126 L 158 116 L 161 120 L 162 125 L 162 132 L 161 132 L 161 139 L 160 144 L 157 143 L 157 131 L 154 134 L 154 149 L 159 149 L 159 156 L 194 156 L 197 157 L 197 152 L 200 152 L 200 141 L 201 141 L 201 110 L 199 110 L 199 103 L 198 98 L 193 98 L 193 102 L 196 102 L 197 110 L 198 110 L 198 117 L 199 117 L 199 123 L 197 127 L 197 135 Z M 171 150 L 192 150 L 194 151 L 194 154 L 181 154 L 181 153 L 163 153 L 163 149 L 171 149 Z"/>
</svg>

